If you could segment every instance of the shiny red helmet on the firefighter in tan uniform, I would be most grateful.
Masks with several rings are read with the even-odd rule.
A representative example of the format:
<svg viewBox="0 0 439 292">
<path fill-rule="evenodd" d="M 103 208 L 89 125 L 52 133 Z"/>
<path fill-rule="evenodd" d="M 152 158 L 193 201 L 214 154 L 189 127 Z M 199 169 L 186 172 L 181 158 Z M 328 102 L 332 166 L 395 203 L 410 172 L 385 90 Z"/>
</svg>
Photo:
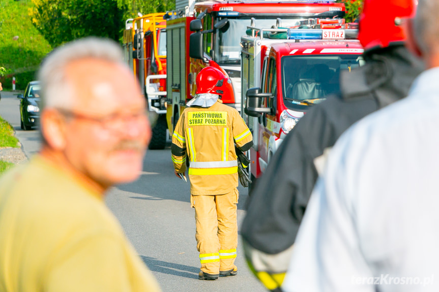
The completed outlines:
<svg viewBox="0 0 439 292">
<path fill-rule="evenodd" d="M 224 94 L 225 86 L 230 83 L 225 75 L 214 67 L 205 67 L 197 75 L 197 91 L 199 93 Z"/>
</svg>

